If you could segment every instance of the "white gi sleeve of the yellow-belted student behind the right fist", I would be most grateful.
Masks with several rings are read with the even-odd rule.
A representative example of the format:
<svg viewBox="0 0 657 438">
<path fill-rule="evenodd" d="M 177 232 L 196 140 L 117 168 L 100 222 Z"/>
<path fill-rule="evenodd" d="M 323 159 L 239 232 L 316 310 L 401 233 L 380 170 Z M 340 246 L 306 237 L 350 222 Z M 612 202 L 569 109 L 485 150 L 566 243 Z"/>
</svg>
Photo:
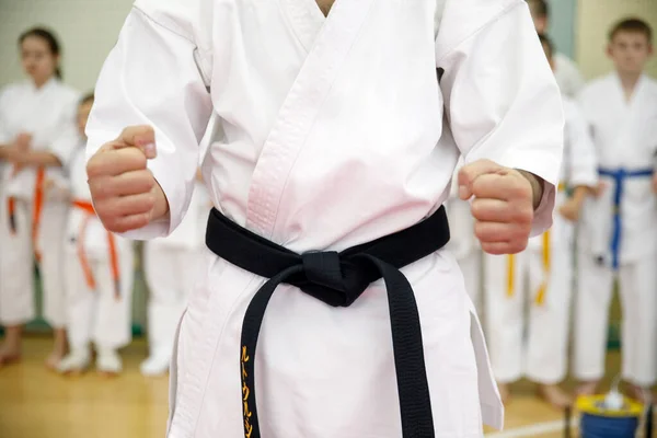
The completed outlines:
<svg viewBox="0 0 657 438">
<path fill-rule="evenodd" d="M 568 183 L 573 186 L 595 187 L 598 184 L 598 164 L 588 124 L 574 103 L 564 102 L 564 112 L 568 145 Z"/>
</svg>

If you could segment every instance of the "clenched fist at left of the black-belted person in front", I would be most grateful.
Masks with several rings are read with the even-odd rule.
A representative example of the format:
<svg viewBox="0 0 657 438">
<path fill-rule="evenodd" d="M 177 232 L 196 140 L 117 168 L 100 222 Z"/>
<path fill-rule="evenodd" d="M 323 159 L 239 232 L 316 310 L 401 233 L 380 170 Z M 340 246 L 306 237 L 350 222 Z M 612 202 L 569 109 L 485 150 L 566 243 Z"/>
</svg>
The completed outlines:
<svg viewBox="0 0 657 438">
<path fill-rule="evenodd" d="M 166 197 L 147 169 L 147 161 L 155 154 L 153 129 L 131 126 L 89 160 L 89 188 L 108 231 L 136 230 L 169 212 Z"/>
</svg>

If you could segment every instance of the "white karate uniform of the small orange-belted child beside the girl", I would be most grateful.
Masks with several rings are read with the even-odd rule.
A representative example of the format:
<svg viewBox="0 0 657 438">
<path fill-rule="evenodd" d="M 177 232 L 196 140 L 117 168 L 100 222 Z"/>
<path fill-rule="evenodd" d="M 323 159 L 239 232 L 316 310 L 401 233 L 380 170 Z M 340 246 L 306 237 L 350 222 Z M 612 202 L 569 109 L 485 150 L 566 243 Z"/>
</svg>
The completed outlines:
<svg viewBox="0 0 657 438">
<path fill-rule="evenodd" d="M 80 145 L 69 168 L 72 201 L 91 203 L 87 184 L 84 147 Z M 66 290 L 68 337 L 73 351 L 87 350 L 93 343 L 99 350 L 115 350 L 129 344 L 135 276 L 132 242 L 115 235 L 118 290 L 112 272 L 108 231 L 101 220 L 83 208 L 72 207 L 67 224 Z M 90 285 L 80 253 L 88 260 Z M 118 292 L 118 293 L 117 293 Z"/>
</svg>

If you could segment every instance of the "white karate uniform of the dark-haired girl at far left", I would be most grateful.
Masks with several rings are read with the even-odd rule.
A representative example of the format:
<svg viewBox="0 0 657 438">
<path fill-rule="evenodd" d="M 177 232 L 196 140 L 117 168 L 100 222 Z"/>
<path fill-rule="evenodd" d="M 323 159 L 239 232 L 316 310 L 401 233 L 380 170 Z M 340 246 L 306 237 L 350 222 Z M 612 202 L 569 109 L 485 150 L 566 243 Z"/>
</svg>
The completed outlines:
<svg viewBox="0 0 657 438">
<path fill-rule="evenodd" d="M 21 132 L 32 135 L 32 149 L 47 150 L 67 164 L 72 147 L 62 141 L 76 131 L 79 94 L 57 79 L 36 89 L 33 82 L 7 87 L 0 93 L 0 143 L 11 143 Z M 45 197 L 33 244 L 33 214 L 37 171 L 25 168 L 14 175 L 4 163 L 0 185 L 0 324 L 24 324 L 35 316 L 33 255 L 41 254 L 44 318 L 53 326 L 65 325 L 62 230 L 68 203 Z M 60 168 L 48 168 L 45 178 L 61 177 Z M 16 230 L 10 228 L 9 199 L 15 199 Z"/>
</svg>

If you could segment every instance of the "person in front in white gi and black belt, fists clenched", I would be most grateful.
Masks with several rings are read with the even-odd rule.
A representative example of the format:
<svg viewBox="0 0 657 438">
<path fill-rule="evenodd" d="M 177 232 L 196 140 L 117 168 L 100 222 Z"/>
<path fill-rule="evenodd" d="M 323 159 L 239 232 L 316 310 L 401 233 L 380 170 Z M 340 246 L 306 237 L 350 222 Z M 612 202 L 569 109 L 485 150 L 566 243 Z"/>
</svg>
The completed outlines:
<svg viewBox="0 0 657 438">
<path fill-rule="evenodd" d="M 441 204 L 462 153 L 484 251 L 543 232 L 558 88 L 522 0 L 321 11 L 140 0 L 99 78 L 88 173 L 112 231 L 174 230 L 222 127 L 168 435 L 481 437 L 503 406 Z"/>
</svg>

